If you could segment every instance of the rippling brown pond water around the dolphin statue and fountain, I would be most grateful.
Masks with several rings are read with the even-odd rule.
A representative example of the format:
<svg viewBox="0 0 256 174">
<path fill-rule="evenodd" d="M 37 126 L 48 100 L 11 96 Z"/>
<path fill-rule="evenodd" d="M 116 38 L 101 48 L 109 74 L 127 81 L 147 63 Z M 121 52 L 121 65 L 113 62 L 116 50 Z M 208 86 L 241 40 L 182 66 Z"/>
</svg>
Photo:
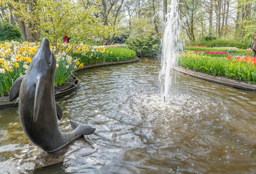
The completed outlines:
<svg viewBox="0 0 256 174">
<path fill-rule="evenodd" d="M 52 157 L 24 136 L 17 107 L 1 109 L 0 173 L 255 173 L 256 94 L 172 72 L 163 102 L 158 70 L 145 60 L 77 73 L 80 88 L 58 100 L 60 128 L 97 129 L 39 170 Z"/>
</svg>

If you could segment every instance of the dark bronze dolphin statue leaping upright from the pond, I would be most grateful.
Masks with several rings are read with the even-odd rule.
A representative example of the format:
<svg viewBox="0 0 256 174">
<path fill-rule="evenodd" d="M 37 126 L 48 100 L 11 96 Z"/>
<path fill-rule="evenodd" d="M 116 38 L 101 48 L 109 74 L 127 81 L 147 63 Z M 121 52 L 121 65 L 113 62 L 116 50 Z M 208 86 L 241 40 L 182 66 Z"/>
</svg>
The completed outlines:
<svg viewBox="0 0 256 174">
<path fill-rule="evenodd" d="M 95 128 L 70 120 L 72 132 L 62 133 L 58 127 L 62 110 L 55 102 L 54 76 L 56 59 L 44 38 L 31 61 L 26 75 L 13 83 L 9 100 L 19 97 L 19 117 L 28 138 L 48 153 L 61 148 L 83 135 L 92 134 Z"/>
</svg>

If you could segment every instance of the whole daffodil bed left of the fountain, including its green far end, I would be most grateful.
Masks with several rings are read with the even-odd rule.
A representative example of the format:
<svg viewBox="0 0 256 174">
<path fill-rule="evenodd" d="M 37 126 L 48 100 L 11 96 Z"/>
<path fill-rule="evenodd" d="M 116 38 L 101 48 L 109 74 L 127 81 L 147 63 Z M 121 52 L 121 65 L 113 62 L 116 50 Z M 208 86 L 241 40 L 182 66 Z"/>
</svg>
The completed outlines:
<svg viewBox="0 0 256 174">
<path fill-rule="evenodd" d="M 31 59 L 35 55 L 40 43 L 0 43 L 0 95 L 7 95 L 12 84 L 21 75 L 26 74 Z M 51 47 L 56 52 L 55 47 Z M 135 58 L 134 51 L 122 47 L 90 47 L 90 45 L 63 44 L 60 52 L 55 55 L 56 75 L 54 86 L 61 86 L 68 81 L 72 70 L 83 67 L 84 64 L 105 61 L 120 61 Z"/>
</svg>

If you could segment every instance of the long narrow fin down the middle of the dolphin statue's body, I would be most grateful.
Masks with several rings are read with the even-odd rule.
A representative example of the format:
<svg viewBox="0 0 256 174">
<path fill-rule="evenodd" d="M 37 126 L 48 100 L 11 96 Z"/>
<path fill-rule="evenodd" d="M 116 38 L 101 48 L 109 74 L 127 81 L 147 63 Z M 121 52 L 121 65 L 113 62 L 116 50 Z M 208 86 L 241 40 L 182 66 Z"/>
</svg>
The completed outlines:
<svg viewBox="0 0 256 174">
<path fill-rule="evenodd" d="M 34 123 L 36 122 L 36 120 L 38 118 L 41 102 L 42 102 L 42 99 L 44 96 L 44 88 L 45 88 L 45 84 L 44 84 L 44 81 L 42 81 L 42 77 L 37 77 L 36 78 L 34 111 L 33 111 L 33 122 Z"/>
</svg>

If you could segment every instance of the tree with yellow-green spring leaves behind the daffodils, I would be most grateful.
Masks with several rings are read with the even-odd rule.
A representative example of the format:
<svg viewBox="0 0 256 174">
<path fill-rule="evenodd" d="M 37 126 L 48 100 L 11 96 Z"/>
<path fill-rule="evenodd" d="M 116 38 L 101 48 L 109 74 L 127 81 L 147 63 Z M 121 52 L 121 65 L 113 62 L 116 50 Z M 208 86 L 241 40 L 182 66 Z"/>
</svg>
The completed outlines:
<svg viewBox="0 0 256 174">
<path fill-rule="evenodd" d="M 71 36 L 74 43 L 93 36 L 109 36 L 109 28 L 103 26 L 99 18 L 95 17 L 97 4 L 90 5 L 88 2 L 8 0 L 8 6 L 19 17 L 24 41 L 35 42 L 40 36 L 46 36 L 58 52 L 65 35 Z"/>
</svg>

